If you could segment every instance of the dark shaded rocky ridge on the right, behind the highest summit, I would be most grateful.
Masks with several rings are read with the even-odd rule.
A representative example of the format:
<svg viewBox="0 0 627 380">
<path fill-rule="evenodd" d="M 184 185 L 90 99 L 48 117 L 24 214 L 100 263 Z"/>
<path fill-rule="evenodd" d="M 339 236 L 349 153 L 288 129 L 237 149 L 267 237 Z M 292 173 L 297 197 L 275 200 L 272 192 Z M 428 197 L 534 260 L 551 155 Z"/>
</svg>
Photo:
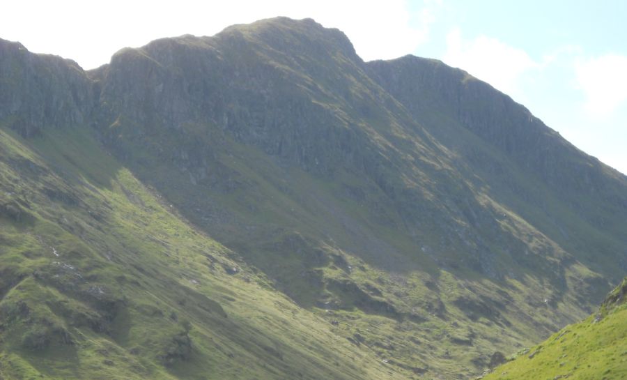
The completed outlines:
<svg viewBox="0 0 627 380">
<path fill-rule="evenodd" d="M 509 96 L 431 59 L 405 56 L 368 66 L 371 75 L 474 173 L 481 173 L 487 183 L 501 183 L 499 192 L 511 192 L 544 213 L 545 225 L 557 227 L 558 233 L 541 229 L 563 246 L 573 252 L 588 249 L 573 245 L 582 226 L 559 220 L 555 203 L 562 203 L 585 221 L 585 228 L 599 234 L 619 235 L 624 228 L 627 197 L 619 189 L 625 186 L 626 176 L 576 149 Z M 456 138 L 453 129 L 470 132 L 472 139 Z M 548 200 L 550 195 L 543 190 L 559 194 L 559 199 Z M 508 203 L 525 213 L 514 202 Z M 610 251 L 617 254 L 614 262 L 624 271 L 627 262 L 620 245 L 617 242 Z M 610 251 L 606 253 L 613 255 Z M 594 265 L 598 257 L 588 259 Z"/>
</svg>

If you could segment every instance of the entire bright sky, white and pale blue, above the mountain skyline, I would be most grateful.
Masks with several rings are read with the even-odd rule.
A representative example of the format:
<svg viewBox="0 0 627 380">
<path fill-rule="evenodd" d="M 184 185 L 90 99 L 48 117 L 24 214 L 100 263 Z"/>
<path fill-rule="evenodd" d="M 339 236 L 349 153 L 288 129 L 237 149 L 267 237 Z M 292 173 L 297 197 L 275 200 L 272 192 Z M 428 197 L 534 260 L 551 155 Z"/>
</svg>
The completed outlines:
<svg viewBox="0 0 627 380">
<path fill-rule="evenodd" d="M 627 173 L 627 1 L 4 1 L 0 38 L 84 68 L 121 47 L 284 15 L 344 31 L 366 61 L 441 59 Z"/>
</svg>

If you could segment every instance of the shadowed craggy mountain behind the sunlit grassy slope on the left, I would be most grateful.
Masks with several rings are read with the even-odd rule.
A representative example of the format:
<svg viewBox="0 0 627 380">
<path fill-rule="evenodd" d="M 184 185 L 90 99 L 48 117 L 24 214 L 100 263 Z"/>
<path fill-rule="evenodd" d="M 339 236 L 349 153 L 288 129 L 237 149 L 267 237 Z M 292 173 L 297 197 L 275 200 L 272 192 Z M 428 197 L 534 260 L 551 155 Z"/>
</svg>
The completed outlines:
<svg viewBox="0 0 627 380">
<path fill-rule="evenodd" d="M 401 371 L 477 372 L 627 270 L 626 177 L 441 62 L 364 63 L 340 31 L 286 18 L 156 40 L 88 73 L 0 49 L 1 126 L 98 136 L 195 228 Z"/>
</svg>

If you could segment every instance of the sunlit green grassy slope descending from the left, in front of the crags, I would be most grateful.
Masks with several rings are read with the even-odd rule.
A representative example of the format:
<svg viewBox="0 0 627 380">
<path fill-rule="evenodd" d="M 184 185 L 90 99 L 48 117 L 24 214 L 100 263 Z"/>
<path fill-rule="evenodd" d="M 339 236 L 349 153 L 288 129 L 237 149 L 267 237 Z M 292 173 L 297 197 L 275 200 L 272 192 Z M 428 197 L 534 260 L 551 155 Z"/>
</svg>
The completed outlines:
<svg viewBox="0 0 627 380">
<path fill-rule="evenodd" d="M 189 227 L 85 130 L 0 130 L 0 155 L 4 379 L 401 376 Z"/>
</svg>

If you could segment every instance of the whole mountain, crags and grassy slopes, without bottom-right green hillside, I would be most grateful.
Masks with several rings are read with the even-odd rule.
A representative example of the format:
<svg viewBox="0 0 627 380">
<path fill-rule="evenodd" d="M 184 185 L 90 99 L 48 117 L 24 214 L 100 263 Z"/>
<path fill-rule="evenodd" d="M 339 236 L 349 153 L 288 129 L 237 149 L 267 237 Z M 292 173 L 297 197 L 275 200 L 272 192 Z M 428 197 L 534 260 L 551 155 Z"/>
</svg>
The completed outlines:
<svg viewBox="0 0 627 380">
<path fill-rule="evenodd" d="M 626 176 L 313 20 L 2 40 L 0 132 L 0 378 L 459 379 L 627 271 Z"/>
</svg>

